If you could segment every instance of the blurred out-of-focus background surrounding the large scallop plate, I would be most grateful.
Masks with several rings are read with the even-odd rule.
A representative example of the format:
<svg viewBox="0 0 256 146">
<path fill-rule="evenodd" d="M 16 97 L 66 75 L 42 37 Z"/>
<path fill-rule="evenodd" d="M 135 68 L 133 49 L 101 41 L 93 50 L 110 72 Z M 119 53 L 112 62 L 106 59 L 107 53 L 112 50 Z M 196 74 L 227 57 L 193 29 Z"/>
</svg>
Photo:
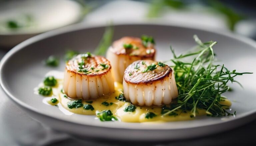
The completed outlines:
<svg viewBox="0 0 256 146">
<path fill-rule="evenodd" d="M 107 25 L 110 22 L 192 26 L 216 32 L 232 32 L 256 39 L 256 2 L 244 0 L 0 0 L 0 58 L 20 42 L 47 31 L 75 23 L 93 26 Z M 118 143 L 81 141 L 68 134 L 52 131 L 16 107 L 1 89 L 0 95 L 2 97 L 0 145 L 118 145 Z M 255 130 L 255 123 L 254 121 L 212 138 L 204 137 L 185 142 L 191 145 L 235 144 L 240 133 L 246 133 L 246 129 Z M 253 142 L 256 143 L 253 137 L 242 136 L 242 138 L 251 142 L 254 140 Z M 218 139 L 218 142 L 214 141 L 215 139 Z M 162 144 L 185 145 L 186 143 L 178 141 Z M 152 145 L 158 144 L 152 143 Z"/>
</svg>

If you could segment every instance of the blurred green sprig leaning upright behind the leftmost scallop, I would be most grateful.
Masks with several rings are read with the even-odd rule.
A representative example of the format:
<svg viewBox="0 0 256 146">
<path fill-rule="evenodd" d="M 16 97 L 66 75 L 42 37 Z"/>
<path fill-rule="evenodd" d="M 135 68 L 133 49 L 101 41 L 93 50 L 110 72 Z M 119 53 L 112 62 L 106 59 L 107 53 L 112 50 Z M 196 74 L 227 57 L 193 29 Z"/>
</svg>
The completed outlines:
<svg viewBox="0 0 256 146">
<path fill-rule="evenodd" d="M 114 34 L 113 27 L 112 26 L 107 27 L 105 29 L 103 37 L 100 40 L 99 45 L 97 46 L 93 54 L 102 55 L 102 56 L 105 55 L 108 47 L 112 43 L 113 34 Z"/>
</svg>

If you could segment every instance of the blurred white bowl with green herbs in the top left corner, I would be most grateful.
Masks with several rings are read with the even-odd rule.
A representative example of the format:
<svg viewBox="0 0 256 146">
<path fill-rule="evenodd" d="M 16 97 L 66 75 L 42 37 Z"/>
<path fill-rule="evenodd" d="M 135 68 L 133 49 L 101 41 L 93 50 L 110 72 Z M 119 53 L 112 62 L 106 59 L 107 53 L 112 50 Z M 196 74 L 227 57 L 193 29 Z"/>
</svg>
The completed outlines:
<svg viewBox="0 0 256 146">
<path fill-rule="evenodd" d="M 0 4 L 0 48 L 10 49 L 34 35 L 76 23 L 81 19 L 81 11 L 81 5 L 71 0 L 2 2 Z M 7 23 L 11 21 L 22 24 L 22 27 L 8 28 Z"/>
</svg>

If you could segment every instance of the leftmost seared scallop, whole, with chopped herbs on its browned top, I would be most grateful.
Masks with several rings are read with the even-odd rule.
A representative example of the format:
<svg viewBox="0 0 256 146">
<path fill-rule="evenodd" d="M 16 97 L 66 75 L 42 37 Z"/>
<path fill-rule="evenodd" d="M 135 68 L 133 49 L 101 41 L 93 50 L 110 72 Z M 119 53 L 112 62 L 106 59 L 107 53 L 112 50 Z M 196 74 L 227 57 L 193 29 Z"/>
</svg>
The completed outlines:
<svg viewBox="0 0 256 146">
<path fill-rule="evenodd" d="M 90 53 L 77 55 L 66 64 L 63 89 L 73 99 L 95 99 L 113 93 L 110 62 Z"/>
</svg>

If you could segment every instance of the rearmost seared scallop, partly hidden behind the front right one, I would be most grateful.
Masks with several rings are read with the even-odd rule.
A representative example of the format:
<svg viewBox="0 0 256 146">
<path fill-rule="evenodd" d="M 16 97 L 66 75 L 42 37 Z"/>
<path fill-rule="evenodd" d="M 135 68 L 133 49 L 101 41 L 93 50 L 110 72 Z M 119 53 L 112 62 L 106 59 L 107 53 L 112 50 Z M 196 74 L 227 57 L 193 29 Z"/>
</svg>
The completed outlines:
<svg viewBox="0 0 256 146">
<path fill-rule="evenodd" d="M 155 48 L 152 37 L 123 37 L 115 41 L 107 51 L 115 81 L 122 82 L 125 69 L 137 60 L 154 60 Z"/>
</svg>

